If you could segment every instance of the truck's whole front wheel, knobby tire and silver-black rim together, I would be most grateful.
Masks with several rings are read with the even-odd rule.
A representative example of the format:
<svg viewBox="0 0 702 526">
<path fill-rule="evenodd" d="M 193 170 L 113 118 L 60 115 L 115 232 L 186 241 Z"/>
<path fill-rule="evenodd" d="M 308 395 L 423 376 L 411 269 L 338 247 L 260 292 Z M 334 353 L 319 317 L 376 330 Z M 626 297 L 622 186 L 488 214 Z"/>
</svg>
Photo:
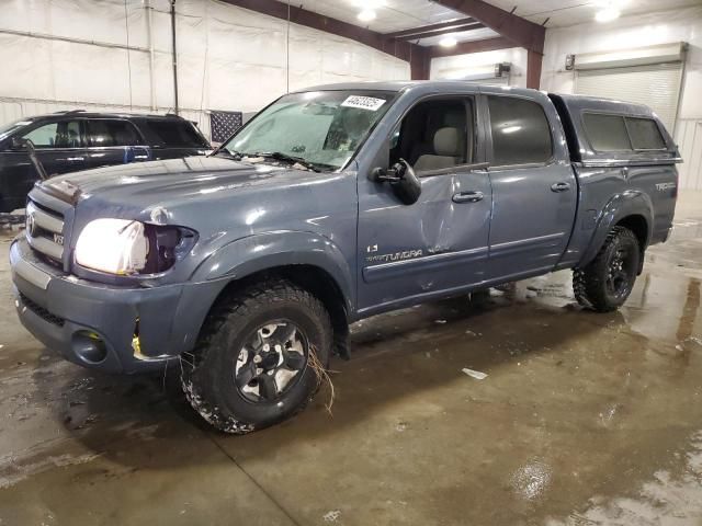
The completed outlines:
<svg viewBox="0 0 702 526">
<path fill-rule="evenodd" d="M 306 290 L 286 281 L 252 285 L 215 307 L 183 356 L 185 397 L 226 433 L 282 422 L 317 391 L 332 336 L 327 310 Z"/>
</svg>

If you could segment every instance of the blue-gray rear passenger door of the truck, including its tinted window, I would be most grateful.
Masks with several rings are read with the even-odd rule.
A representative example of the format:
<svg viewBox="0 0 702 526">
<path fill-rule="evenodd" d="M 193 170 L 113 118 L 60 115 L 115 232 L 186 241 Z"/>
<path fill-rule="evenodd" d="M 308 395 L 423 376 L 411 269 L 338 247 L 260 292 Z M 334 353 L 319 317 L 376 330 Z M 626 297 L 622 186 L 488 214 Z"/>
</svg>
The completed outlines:
<svg viewBox="0 0 702 526">
<path fill-rule="evenodd" d="M 577 182 L 555 110 L 541 96 L 483 96 L 492 186 L 490 279 L 551 271 L 573 229 Z"/>
</svg>

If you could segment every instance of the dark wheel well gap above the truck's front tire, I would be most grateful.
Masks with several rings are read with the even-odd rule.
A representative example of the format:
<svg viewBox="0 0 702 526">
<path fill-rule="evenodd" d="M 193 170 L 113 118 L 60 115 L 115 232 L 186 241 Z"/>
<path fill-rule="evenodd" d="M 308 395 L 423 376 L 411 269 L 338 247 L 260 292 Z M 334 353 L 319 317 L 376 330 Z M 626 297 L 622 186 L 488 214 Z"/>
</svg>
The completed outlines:
<svg viewBox="0 0 702 526">
<path fill-rule="evenodd" d="M 349 323 L 347 319 L 347 304 L 343 293 L 331 274 L 315 265 L 285 265 L 267 268 L 239 279 L 233 279 L 219 293 L 216 305 L 236 289 L 254 282 L 271 278 L 287 279 L 316 296 L 329 312 L 333 328 L 335 352 L 348 357 L 347 336 Z"/>
</svg>

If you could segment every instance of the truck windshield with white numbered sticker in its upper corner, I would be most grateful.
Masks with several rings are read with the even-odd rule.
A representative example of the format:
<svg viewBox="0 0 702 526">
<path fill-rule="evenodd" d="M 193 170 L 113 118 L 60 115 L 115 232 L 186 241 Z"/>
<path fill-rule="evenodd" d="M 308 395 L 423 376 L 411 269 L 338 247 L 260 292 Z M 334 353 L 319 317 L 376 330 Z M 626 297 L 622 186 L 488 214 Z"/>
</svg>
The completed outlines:
<svg viewBox="0 0 702 526">
<path fill-rule="evenodd" d="M 222 150 L 236 158 L 270 158 L 310 170 L 338 170 L 353 157 L 394 95 L 363 90 L 284 95 Z"/>
</svg>

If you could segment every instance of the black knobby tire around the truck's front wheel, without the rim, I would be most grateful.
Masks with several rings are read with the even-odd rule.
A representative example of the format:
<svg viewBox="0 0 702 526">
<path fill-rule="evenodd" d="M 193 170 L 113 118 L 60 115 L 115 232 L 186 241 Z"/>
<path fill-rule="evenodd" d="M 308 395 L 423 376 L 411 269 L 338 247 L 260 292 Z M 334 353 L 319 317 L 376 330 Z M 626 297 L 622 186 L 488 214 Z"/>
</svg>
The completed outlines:
<svg viewBox="0 0 702 526">
<path fill-rule="evenodd" d="M 301 412 L 319 389 L 319 375 L 307 361 L 299 380 L 276 403 L 251 403 L 234 384 L 233 367 L 246 334 L 267 320 L 284 317 L 303 328 L 308 353 L 328 367 L 333 331 L 319 299 L 285 279 L 252 284 L 218 301 L 207 317 L 192 353 L 181 358 L 185 398 L 212 426 L 246 434 Z"/>
</svg>

